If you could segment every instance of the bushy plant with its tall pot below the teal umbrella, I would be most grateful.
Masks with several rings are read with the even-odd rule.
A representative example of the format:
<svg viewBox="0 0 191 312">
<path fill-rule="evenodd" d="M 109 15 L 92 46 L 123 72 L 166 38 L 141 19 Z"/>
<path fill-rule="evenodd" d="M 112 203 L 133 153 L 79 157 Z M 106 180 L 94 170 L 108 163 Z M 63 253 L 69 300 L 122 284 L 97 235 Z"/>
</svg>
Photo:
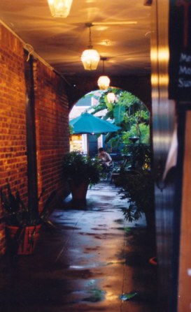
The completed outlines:
<svg viewBox="0 0 191 312">
<path fill-rule="evenodd" d="M 100 179 L 101 165 L 98 159 L 71 151 L 64 156 L 62 165 L 73 200 L 85 200 L 88 186 L 97 184 Z"/>
</svg>

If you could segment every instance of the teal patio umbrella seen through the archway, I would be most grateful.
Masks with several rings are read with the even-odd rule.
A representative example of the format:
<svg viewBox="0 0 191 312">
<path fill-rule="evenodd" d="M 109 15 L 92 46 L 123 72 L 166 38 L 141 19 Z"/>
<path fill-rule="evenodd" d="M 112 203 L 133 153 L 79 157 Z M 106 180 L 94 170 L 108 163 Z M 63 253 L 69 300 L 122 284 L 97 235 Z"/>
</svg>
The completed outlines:
<svg viewBox="0 0 191 312">
<path fill-rule="evenodd" d="M 108 133 L 115 132 L 120 129 L 120 127 L 111 124 L 109 121 L 95 117 L 88 112 L 84 112 L 79 117 L 71 119 L 69 124 L 70 126 L 73 126 L 74 134 Z"/>
</svg>

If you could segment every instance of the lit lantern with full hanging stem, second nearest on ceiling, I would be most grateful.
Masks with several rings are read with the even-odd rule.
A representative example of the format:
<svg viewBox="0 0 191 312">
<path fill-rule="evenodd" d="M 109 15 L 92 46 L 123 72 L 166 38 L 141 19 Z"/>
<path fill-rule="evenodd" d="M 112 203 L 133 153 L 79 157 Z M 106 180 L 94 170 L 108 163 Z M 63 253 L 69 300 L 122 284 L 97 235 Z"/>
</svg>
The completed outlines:
<svg viewBox="0 0 191 312">
<path fill-rule="evenodd" d="M 92 38 L 91 38 L 91 27 L 92 24 L 87 24 L 87 27 L 90 29 L 90 37 L 89 37 L 89 45 L 88 49 L 83 51 L 83 54 L 81 56 L 81 61 L 83 62 L 83 67 L 85 70 L 95 70 L 97 69 L 97 65 L 99 63 L 99 53 L 97 50 L 92 49 Z"/>
</svg>

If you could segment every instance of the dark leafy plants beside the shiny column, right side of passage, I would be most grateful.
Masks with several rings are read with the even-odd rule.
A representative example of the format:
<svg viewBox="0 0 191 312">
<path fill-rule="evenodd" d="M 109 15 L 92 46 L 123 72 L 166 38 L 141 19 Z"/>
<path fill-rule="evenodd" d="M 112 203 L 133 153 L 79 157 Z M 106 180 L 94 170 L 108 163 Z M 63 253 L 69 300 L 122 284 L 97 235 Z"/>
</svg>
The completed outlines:
<svg viewBox="0 0 191 312">
<path fill-rule="evenodd" d="M 129 221 L 139 220 L 145 214 L 148 228 L 155 228 L 154 175 L 150 168 L 150 145 L 130 144 L 127 147 L 127 163 L 120 169 L 118 182 L 122 189 L 122 198 L 128 200 L 124 209 L 125 218 Z"/>
</svg>

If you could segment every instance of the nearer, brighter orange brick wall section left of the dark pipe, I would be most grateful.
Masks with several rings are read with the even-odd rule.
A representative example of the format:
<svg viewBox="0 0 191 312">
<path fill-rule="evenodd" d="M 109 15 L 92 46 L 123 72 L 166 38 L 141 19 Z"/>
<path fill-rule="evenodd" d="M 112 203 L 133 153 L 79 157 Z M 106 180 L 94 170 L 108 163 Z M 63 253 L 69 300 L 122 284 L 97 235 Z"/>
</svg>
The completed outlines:
<svg viewBox="0 0 191 312">
<path fill-rule="evenodd" d="M 0 26 L 0 186 L 27 195 L 25 84 L 22 44 Z M 1 210 L 0 210 L 1 214 Z M 1 214 L 2 216 L 2 214 Z M 4 251 L 0 225 L 0 252 Z"/>
</svg>

